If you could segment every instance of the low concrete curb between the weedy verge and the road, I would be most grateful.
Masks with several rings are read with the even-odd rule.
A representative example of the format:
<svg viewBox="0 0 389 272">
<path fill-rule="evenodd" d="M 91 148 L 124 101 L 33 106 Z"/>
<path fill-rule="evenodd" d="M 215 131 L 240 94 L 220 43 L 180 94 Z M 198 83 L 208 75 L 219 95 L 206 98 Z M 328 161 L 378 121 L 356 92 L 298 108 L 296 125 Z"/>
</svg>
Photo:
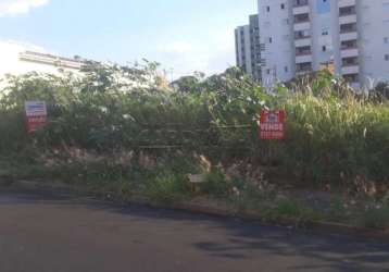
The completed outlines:
<svg viewBox="0 0 389 272">
<path fill-rule="evenodd" d="M 47 184 L 47 183 L 26 182 L 26 181 L 13 182 L 12 184 L 5 184 L 5 185 L 0 183 L 0 189 L 1 188 L 26 190 L 26 191 L 45 190 L 51 193 L 70 193 L 70 194 L 75 191 L 74 188 L 72 188 L 68 185 Z M 389 230 L 382 231 L 382 230 L 375 230 L 375 228 L 356 227 L 356 226 L 350 226 L 346 224 L 331 223 L 331 222 L 303 221 L 293 218 L 278 218 L 276 220 L 269 221 L 269 220 L 264 220 L 264 218 L 261 217 L 261 214 L 255 211 L 237 212 L 227 209 L 206 207 L 206 206 L 195 205 L 189 202 L 166 205 L 166 203 L 150 201 L 149 199 L 142 196 L 134 196 L 130 200 L 126 202 L 154 208 L 154 209 L 168 209 L 168 210 L 185 211 L 191 213 L 200 213 L 204 215 L 212 215 L 218 218 L 236 218 L 247 221 L 256 221 L 263 225 L 287 226 L 297 230 L 305 230 L 317 234 L 343 235 L 349 237 L 355 237 L 357 239 L 374 239 L 381 243 L 389 243 Z"/>
</svg>

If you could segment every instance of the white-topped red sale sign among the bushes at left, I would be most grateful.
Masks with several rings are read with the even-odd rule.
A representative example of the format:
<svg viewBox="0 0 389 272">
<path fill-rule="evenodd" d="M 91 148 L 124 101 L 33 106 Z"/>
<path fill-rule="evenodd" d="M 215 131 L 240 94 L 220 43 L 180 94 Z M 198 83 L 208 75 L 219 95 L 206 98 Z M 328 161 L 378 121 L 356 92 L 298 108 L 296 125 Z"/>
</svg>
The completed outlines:
<svg viewBox="0 0 389 272">
<path fill-rule="evenodd" d="M 45 101 L 26 101 L 27 132 L 33 133 L 47 123 L 47 107 Z"/>
</svg>

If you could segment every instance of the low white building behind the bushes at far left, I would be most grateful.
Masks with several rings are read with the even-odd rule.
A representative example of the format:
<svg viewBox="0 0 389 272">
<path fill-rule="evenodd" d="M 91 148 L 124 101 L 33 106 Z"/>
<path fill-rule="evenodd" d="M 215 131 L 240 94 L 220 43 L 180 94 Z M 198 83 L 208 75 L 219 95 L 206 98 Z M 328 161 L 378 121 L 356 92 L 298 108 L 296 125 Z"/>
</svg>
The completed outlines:
<svg viewBox="0 0 389 272">
<path fill-rule="evenodd" d="M 60 69 L 78 72 L 83 64 L 81 60 L 49 54 L 28 45 L 0 41 L 0 77 L 28 72 L 59 74 Z"/>
</svg>

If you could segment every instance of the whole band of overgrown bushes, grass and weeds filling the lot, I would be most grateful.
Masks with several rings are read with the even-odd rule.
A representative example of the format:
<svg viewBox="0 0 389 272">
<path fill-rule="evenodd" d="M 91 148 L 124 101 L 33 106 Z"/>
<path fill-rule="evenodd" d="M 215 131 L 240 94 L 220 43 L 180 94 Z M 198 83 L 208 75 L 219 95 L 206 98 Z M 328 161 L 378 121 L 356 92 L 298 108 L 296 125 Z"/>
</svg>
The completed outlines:
<svg viewBox="0 0 389 272">
<path fill-rule="evenodd" d="M 378 202 L 387 194 L 385 85 L 355 95 L 341 79 L 319 72 L 268 91 L 238 69 L 168 85 L 150 62 L 89 63 L 84 72 L 85 77 L 8 78 L 0 96 L 0 177 L 55 177 L 97 193 L 172 202 L 192 195 L 188 174 L 204 174 L 202 194 L 229 199 L 238 209 L 262 209 L 269 218 L 342 214 L 340 208 L 323 214 L 299 201 L 276 200 L 272 176 L 267 173 L 265 182 L 266 173 L 255 174 L 264 164 L 276 168 L 276 180 L 289 186 L 337 188 Z M 30 135 L 26 100 L 45 100 L 49 111 L 48 125 Z M 258 138 L 261 109 L 286 110 L 285 140 Z M 241 161 L 244 170 L 228 172 Z M 267 206 L 272 199 L 275 205 Z M 364 224 L 386 224 L 375 220 L 382 209 L 367 209 Z"/>
</svg>

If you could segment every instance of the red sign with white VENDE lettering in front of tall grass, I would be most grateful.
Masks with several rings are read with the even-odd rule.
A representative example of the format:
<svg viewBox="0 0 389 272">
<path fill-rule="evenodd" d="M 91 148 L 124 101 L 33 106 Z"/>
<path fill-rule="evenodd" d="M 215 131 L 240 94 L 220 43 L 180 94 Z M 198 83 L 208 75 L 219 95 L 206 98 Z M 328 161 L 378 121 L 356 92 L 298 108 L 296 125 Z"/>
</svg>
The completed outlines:
<svg viewBox="0 0 389 272">
<path fill-rule="evenodd" d="M 260 122 L 260 138 L 284 139 L 285 116 L 285 111 L 262 111 Z"/>
</svg>

